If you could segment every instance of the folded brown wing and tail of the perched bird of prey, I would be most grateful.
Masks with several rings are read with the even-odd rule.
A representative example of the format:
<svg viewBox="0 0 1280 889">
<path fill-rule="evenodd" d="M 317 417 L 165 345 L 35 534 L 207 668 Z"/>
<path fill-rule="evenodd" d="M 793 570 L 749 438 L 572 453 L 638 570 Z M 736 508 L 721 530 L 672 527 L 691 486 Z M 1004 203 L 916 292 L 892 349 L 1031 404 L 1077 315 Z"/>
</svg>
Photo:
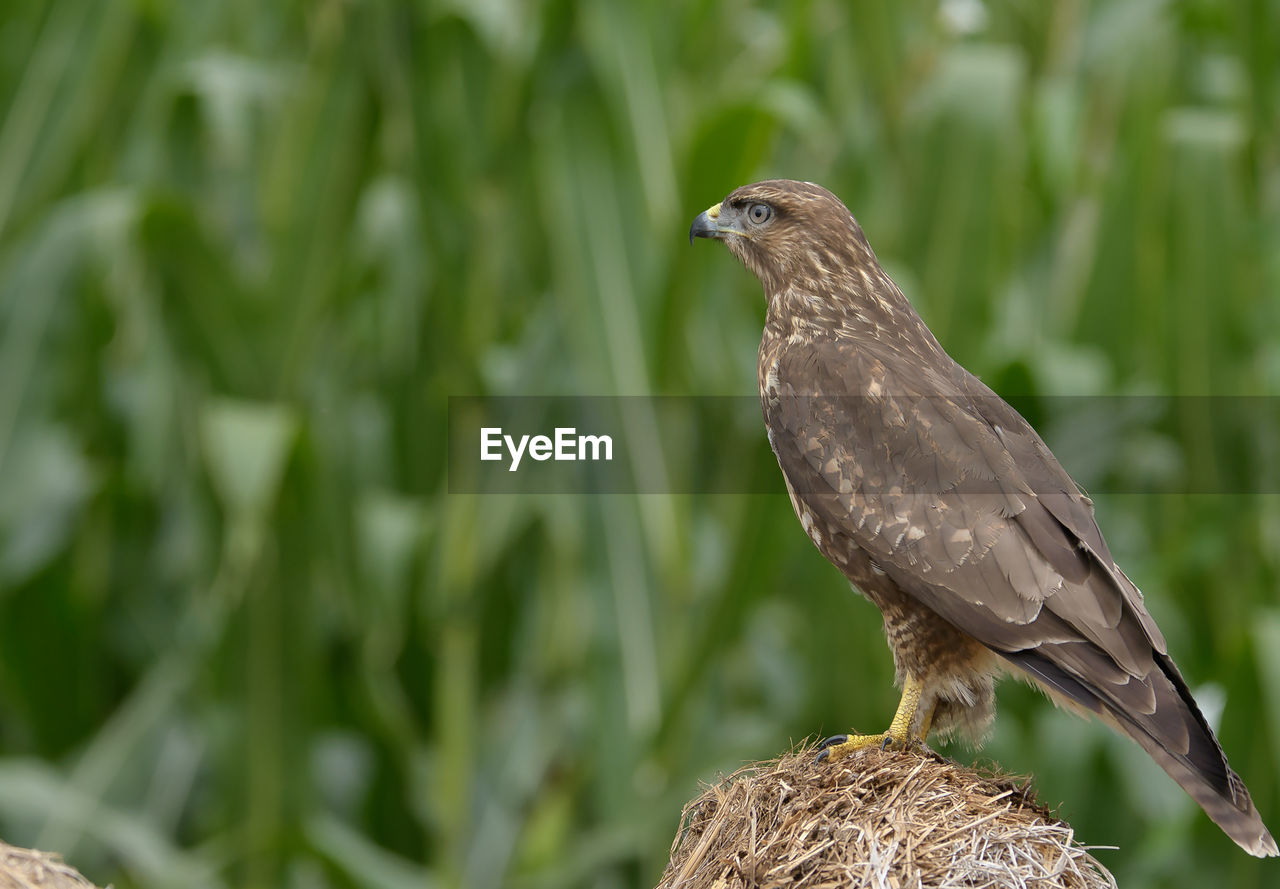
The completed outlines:
<svg viewBox="0 0 1280 889">
<path fill-rule="evenodd" d="M 1274 854 L 1088 499 L 975 377 L 893 358 L 842 342 L 782 350 L 764 409 L 796 496 L 905 592 L 1135 738 L 1236 842 Z"/>
</svg>

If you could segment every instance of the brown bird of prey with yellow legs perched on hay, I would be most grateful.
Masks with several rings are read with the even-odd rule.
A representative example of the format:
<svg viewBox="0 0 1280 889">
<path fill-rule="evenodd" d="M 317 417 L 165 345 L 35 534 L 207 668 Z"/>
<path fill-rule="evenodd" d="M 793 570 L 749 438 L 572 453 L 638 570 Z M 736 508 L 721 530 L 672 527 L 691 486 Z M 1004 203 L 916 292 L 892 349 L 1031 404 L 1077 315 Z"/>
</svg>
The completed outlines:
<svg viewBox="0 0 1280 889">
<path fill-rule="evenodd" d="M 887 732 L 980 737 L 997 674 L 1142 744 L 1242 848 L 1277 854 L 1116 565 L 1093 505 L 1014 408 L 957 365 L 827 189 L 774 179 L 700 214 L 764 287 L 758 377 L 800 524 L 883 614 L 901 702 Z"/>
</svg>

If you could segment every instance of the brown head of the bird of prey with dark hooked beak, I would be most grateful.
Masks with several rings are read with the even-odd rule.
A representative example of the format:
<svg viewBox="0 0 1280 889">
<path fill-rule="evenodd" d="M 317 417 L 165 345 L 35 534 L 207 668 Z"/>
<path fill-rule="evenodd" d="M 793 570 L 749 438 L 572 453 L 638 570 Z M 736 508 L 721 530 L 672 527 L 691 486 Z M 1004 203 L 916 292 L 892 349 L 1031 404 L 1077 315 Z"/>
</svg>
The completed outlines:
<svg viewBox="0 0 1280 889">
<path fill-rule="evenodd" d="M 852 214 L 835 194 L 812 182 L 769 179 L 742 185 L 705 212 L 689 229 L 694 238 L 724 242 L 750 269 L 765 293 L 790 285 L 810 293 L 856 289 L 859 269 L 878 269 Z"/>
</svg>

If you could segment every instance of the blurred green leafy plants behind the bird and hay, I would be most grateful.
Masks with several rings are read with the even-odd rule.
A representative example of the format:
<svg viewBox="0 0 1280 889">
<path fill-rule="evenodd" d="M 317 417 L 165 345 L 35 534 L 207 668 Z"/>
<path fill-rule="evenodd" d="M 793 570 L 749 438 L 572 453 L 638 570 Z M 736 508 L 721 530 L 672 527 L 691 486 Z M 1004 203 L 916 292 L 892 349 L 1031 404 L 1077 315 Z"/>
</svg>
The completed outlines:
<svg viewBox="0 0 1280 889">
<path fill-rule="evenodd" d="M 119 889 L 639 889 L 699 782 L 883 728 L 879 617 L 758 418 L 691 446 L 773 494 L 447 492 L 451 395 L 753 394 L 759 287 L 686 233 L 767 177 L 1085 443 L 1280 828 L 1274 403 L 1091 449 L 1111 412 L 1056 399 L 1280 393 L 1277 60 L 1267 0 L 10 0 L 0 837 Z M 948 752 L 1121 885 L 1280 881 L 1135 744 L 1000 700 Z"/>
</svg>

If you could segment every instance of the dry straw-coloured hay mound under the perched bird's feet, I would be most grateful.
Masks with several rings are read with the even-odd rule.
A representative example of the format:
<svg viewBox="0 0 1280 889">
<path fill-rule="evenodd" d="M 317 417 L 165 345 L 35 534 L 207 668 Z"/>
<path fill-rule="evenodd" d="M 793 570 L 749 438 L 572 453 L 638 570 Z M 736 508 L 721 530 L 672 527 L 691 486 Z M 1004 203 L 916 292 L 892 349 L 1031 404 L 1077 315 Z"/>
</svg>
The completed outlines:
<svg viewBox="0 0 1280 889">
<path fill-rule="evenodd" d="M 749 765 L 685 806 L 658 889 L 1115 889 L 1029 782 L 931 751 L 815 756 Z"/>
</svg>

